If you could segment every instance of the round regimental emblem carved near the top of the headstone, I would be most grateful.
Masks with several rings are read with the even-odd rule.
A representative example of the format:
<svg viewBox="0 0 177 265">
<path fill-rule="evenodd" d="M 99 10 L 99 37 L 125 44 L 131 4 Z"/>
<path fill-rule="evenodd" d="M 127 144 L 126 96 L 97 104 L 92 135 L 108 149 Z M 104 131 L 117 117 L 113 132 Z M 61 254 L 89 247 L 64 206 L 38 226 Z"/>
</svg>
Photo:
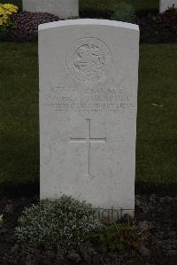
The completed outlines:
<svg viewBox="0 0 177 265">
<path fill-rule="evenodd" d="M 94 82 L 102 78 L 112 65 L 111 51 L 95 38 L 83 38 L 73 43 L 66 56 L 66 65 L 74 78 Z"/>
</svg>

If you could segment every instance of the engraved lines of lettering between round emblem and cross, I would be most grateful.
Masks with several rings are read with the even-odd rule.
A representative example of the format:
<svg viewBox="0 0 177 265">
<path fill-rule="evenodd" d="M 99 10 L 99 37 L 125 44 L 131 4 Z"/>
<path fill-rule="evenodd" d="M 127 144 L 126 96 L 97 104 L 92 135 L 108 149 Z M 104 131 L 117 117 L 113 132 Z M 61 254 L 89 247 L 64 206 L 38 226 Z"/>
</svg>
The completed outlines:
<svg viewBox="0 0 177 265">
<path fill-rule="evenodd" d="M 98 83 L 78 90 L 72 87 L 53 86 L 45 95 L 45 105 L 52 106 L 60 114 L 124 113 L 135 108 L 131 95 L 121 86 Z"/>
</svg>

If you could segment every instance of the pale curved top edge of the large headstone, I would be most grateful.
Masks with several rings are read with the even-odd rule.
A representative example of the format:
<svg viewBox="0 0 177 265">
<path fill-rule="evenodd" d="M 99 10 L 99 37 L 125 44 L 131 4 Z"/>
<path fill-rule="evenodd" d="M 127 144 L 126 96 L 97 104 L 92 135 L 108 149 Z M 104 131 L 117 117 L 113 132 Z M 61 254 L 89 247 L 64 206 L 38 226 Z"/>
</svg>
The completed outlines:
<svg viewBox="0 0 177 265">
<path fill-rule="evenodd" d="M 95 26 L 112 26 L 112 27 L 124 27 L 128 29 L 134 29 L 139 31 L 138 25 L 115 21 L 115 20 L 108 20 L 108 19 L 67 19 L 67 20 L 59 20 L 50 23 L 44 23 L 39 25 L 38 29 L 48 29 L 53 27 L 63 27 L 63 26 L 77 26 L 77 25 L 95 25 Z"/>
</svg>

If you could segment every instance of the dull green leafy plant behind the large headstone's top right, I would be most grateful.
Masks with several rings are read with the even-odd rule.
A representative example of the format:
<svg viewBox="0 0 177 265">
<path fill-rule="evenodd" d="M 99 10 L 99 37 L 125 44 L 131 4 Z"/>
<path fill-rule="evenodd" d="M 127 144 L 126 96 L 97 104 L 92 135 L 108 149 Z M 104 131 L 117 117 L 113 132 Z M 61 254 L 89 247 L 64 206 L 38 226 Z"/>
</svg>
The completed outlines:
<svg viewBox="0 0 177 265">
<path fill-rule="evenodd" d="M 135 23 L 135 8 L 132 4 L 129 4 L 124 1 L 118 1 L 113 6 L 112 19 L 123 22 Z"/>
</svg>

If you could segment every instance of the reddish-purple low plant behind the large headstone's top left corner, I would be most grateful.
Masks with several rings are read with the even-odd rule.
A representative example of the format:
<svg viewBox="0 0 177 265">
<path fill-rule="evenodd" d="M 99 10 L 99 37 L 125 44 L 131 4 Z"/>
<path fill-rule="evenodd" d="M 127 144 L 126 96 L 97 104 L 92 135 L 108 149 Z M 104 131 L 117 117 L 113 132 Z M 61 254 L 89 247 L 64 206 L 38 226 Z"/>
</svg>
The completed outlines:
<svg viewBox="0 0 177 265">
<path fill-rule="evenodd" d="M 57 21 L 58 17 L 43 12 L 19 12 L 11 15 L 11 21 L 16 27 L 4 37 L 4 41 L 28 43 L 37 40 L 38 26 L 43 23 Z"/>
</svg>

